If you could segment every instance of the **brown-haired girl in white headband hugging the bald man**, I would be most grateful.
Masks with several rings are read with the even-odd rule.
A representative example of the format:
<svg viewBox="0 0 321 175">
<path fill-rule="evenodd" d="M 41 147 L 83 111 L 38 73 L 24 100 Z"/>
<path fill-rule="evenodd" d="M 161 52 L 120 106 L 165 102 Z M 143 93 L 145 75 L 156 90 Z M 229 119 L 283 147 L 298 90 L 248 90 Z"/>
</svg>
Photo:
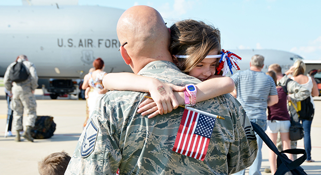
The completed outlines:
<svg viewBox="0 0 321 175">
<path fill-rule="evenodd" d="M 196 84 L 196 102 L 234 90 L 234 81 L 230 77 L 214 75 L 219 58 L 222 57 L 220 31 L 217 28 L 202 21 L 187 19 L 173 24 L 170 31 L 173 62 L 183 72 L 203 81 Z M 220 69 L 222 68 L 220 66 Z M 148 118 L 171 112 L 185 101 L 185 87 L 166 84 L 155 78 L 133 73 L 108 73 L 103 79 L 103 84 L 109 90 L 149 92 L 154 101 L 146 99 L 137 110 L 142 112 L 142 115 L 151 113 Z M 178 92 L 173 93 L 173 90 Z"/>
</svg>

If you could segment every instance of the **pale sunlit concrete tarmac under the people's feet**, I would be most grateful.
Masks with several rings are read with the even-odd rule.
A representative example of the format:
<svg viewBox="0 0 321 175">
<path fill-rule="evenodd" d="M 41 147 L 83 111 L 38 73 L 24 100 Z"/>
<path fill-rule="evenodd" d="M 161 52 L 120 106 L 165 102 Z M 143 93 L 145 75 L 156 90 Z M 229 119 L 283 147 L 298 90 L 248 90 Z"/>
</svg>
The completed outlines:
<svg viewBox="0 0 321 175">
<path fill-rule="evenodd" d="M 73 154 L 86 115 L 86 101 L 76 96 L 50 99 L 44 96 L 41 89 L 35 91 L 37 98 L 37 114 L 54 117 L 57 124 L 54 136 L 49 139 L 35 139 L 34 142 L 22 139 L 16 142 L 14 136 L 4 137 L 8 106 L 5 100 L 4 87 L 0 87 L 0 174 L 39 174 L 38 162 L 45 156 L 59 151 Z M 315 162 L 303 162 L 301 167 L 307 174 L 321 174 L 321 97 L 313 97 L 315 114 L 311 126 L 311 155 Z M 24 126 L 24 128 L 26 128 Z M 13 129 L 14 130 L 14 129 Z M 16 132 L 13 131 L 15 135 Z M 297 148 L 304 148 L 303 139 L 298 140 Z M 269 167 L 269 148 L 263 143 L 261 173 Z M 301 155 L 298 155 L 301 156 Z M 248 169 L 246 173 L 248 174 Z"/>
</svg>

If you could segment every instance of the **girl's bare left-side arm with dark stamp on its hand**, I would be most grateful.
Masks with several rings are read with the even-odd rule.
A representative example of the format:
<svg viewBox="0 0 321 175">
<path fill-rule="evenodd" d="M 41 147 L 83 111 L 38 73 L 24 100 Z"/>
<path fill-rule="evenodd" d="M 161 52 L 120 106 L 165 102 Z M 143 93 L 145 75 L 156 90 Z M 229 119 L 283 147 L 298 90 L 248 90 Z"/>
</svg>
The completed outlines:
<svg viewBox="0 0 321 175">
<path fill-rule="evenodd" d="M 171 112 L 178 107 L 173 90 L 183 91 L 185 87 L 166 84 L 158 79 L 129 72 L 108 73 L 103 78 L 103 85 L 108 90 L 132 90 L 149 92 L 155 100 L 160 114 Z"/>
</svg>

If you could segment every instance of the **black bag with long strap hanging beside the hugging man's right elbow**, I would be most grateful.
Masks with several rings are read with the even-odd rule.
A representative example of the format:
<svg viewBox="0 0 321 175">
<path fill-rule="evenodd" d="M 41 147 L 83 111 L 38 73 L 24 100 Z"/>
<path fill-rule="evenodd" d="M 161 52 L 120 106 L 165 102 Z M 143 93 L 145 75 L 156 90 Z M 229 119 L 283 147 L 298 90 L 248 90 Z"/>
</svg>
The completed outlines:
<svg viewBox="0 0 321 175">
<path fill-rule="evenodd" d="M 279 152 L 272 142 L 272 140 L 266 135 L 264 130 L 251 121 L 254 131 L 262 138 L 265 144 L 277 155 L 276 159 L 276 172 L 274 175 L 284 175 L 286 172 L 291 172 L 293 175 L 307 175 L 304 169 L 300 166 L 306 159 L 306 151 L 304 149 L 286 149 Z M 290 160 L 284 153 L 291 154 L 303 154 L 294 161 Z"/>
</svg>

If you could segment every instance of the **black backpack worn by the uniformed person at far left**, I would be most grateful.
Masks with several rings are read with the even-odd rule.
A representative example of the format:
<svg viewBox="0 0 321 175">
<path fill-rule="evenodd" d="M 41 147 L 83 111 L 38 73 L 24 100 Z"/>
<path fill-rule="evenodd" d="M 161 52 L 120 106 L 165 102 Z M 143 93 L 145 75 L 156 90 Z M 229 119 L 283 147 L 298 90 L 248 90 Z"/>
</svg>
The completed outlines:
<svg viewBox="0 0 321 175">
<path fill-rule="evenodd" d="M 16 64 L 14 64 L 10 69 L 9 78 L 11 81 L 22 82 L 26 80 L 28 76 L 29 76 L 29 73 L 23 61 L 16 62 Z"/>
</svg>

